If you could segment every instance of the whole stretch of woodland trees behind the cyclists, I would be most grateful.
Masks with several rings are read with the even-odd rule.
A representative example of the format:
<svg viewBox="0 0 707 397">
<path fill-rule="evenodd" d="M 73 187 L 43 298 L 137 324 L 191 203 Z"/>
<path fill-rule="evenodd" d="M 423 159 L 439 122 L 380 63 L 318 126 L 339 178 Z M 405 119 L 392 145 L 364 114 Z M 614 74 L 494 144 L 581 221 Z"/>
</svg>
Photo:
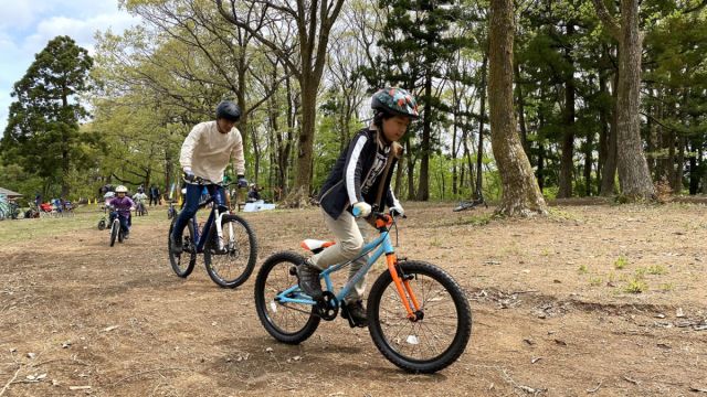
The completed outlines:
<svg viewBox="0 0 707 397">
<path fill-rule="evenodd" d="M 94 56 L 56 37 L 15 84 L 0 184 L 74 198 L 169 186 L 186 135 L 231 98 L 247 178 L 270 200 L 316 194 L 370 94 L 397 85 L 422 109 L 401 197 L 483 192 L 544 213 L 540 192 L 704 193 L 706 4 L 126 0 L 141 25 L 99 32 Z"/>
</svg>

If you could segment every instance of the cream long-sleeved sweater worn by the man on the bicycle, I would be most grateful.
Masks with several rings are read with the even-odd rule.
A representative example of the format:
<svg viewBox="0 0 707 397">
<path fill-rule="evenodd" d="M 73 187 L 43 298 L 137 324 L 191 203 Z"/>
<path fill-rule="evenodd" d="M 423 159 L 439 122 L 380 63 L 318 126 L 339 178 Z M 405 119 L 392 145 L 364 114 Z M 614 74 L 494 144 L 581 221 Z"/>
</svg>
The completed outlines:
<svg viewBox="0 0 707 397">
<path fill-rule="evenodd" d="M 179 163 L 182 169 L 190 168 L 197 176 L 221 182 L 231 157 L 233 157 L 235 173 L 243 175 L 245 159 L 241 132 L 233 127 L 229 133 L 221 133 L 217 121 L 204 121 L 194 126 L 184 139 Z"/>
</svg>

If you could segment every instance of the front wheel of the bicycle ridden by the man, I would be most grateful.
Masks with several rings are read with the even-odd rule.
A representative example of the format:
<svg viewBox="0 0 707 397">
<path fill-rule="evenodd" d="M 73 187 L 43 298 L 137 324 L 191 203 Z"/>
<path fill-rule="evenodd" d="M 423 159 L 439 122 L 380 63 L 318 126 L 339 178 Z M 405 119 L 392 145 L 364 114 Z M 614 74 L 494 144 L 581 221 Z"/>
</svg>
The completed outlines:
<svg viewBox="0 0 707 397">
<path fill-rule="evenodd" d="M 236 243 L 233 246 L 229 245 L 224 254 L 217 253 L 217 247 L 214 247 L 213 244 L 218 232 L 215 223 L 213 223 L 209 230 L 207 244 L 204 245 L 203 261 L 207 266 L 207 272 L 213 282 L 223 288 L 235 288 L 245 282 L 247 278 L 251 277 L 251 273 L 253 273 L 255 261 L 257 260 L 257 239 L 255 238 L 255 232 L 253 232 L 253 228 L 244 218 L 238 215 L 226 214 L 221 217 L 224 240 L 229 239 L 226 235 L 226 230 L 230 229 L 228 227 L 229 224 L 233 224 L 234 228 L 239 228 L 234 233 Z M 243 243 L 245 242 L 247 242 L 247 253 L 243 255 L 243 249 L 245 248 L 243 247 Z M 224 266 L 217 264 L 217 259 L 224 259 Z M 235 265 L 234 270 L 229 271 L 226 266 L 240 261 L 239 259 L 245 259 L 245 262 Z M 229 268 L 231 268 L 231 266 L 229 266 Z"/>
</svg>

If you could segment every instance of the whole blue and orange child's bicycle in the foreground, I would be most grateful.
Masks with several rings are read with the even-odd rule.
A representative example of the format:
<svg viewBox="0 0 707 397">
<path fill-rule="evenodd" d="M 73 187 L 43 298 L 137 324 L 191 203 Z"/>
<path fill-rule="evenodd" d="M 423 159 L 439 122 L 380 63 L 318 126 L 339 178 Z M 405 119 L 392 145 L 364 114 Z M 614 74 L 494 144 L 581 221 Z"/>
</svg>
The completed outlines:
<svg viewBox="0 0 707 397">
<path fill-rule="evenodd" d="M 296 266 L 304 257 L 293 251 L 272 255 L 255 279 L 255 307 L 265 330 L 276 340 L 298 344 L 316 331 L 321 320 L 336 319 L 347 308 L 344 298 L 383 254 L 382 272 L 368 296 L 368 323 L 373 343 L 386 358 L 414 373 L 434 373 L 454 363 L 472 334 L 472 311 L 464 290 L 441 268 L 395 257 L 390 232 L 397 216 L 376 213 L 380 236 L 361 254 L 321 271 L 325 291 L 315 301 L 297 286 Z M 307 239 L 302 246 L 317 254 L 331 242 Z M 370 253 L 370 257 L 338 292 L 331 275 Z M 355 324 L 349 320 L 349 324 Z"/>
</svg>

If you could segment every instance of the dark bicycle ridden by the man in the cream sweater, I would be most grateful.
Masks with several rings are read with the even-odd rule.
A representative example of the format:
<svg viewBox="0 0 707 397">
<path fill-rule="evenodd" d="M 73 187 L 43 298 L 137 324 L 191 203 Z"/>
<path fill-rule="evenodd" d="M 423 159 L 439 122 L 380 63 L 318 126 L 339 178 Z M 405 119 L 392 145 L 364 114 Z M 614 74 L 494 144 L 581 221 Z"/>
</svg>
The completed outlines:
<svg viewBox="0 0 707 397">
<path fill-rule="evenodd" d="M 198 180 L 198 184 L 214 184 L 207 180 Z M 228 187 L 230 184 L 220 184 Z M 199 208 L 211 204 L 209 219 L 199 230 L 197 216 L 187 224 L 182 236 L 182 253 L 172 254 L 171 235 L 178 218 L 173 214 L 169 226 L 168 249 L 169 261 L 177 276 L 186 278 L 194 269 L 197 255 L 203 254 L 203 261 L 209 277 L 224 288 L 235 288 L 251 276 L 257 260 L 257 242 L 249 223 L 229 211 L 226 205 L 215 203 L 215 195 L 199 203 Z"/>
</svg>

